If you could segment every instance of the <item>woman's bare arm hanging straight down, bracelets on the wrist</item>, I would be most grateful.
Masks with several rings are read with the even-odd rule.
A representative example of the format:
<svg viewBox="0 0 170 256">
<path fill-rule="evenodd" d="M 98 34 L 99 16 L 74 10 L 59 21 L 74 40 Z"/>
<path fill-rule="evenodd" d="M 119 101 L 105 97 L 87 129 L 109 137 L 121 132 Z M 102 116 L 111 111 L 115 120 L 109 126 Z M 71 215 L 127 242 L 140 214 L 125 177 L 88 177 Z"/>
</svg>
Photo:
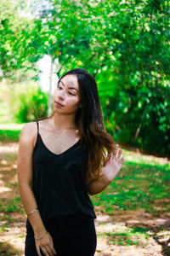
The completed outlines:
<svg viewBox="0 0 170 256">
<path fill-rule="evenodd" d="M 20 199 L 22 201 L 23 207 L 26 211 L 26 215 L 28 215 L 32 210 L 37 208 L 37 201 L 31 189 L 32 185 L 32 153 L 34 148 L 34 142 L 37 138 L 37 124 L 36 123 L 28 123 L 24 125 L 20 133 L 20 143 L 18 150 L 18 158 L 17 158 L 17 174 L 19 181 L 19 190 L 20 190 Z M 42 218 L 40 216 L 39 211 L 31 213 L 29 215 L 29 221 L 31 223 L 32 229 L 34 230 L 35 237 L 41 237 L 45 234 L 46 229 L 44 224 L 42 223 Z M 47 241 L 48 239 L 48 241 Z M 42 248 L 45 248 L 43 245 L 43 241 L 45 244 L 48 243 L 48 247 L 51 252 L 54 253 L 53 242 L 49 244 L 49 237 L 44 237 L 42 240 L 38 241 Z M 39 250 L 37 248 L 37 250 Z M 53 253 L 45 253 L 45 255 L 54 255 Z M 40 251 L 37 252 L 38 255 L 41 255 Z M 43 252 L 44 253 L 44 252 Z"/>
</svg>

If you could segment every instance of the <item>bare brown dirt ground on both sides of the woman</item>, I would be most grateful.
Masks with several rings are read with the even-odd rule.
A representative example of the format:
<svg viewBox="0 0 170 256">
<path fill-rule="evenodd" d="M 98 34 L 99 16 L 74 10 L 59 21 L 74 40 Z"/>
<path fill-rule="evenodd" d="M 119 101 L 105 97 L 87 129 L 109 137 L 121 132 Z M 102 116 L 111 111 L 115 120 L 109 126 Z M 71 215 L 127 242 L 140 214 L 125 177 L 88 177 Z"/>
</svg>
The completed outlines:
<svg viewBox="0 0 170 256">
<path fill-rule="evenodd" d="M 17 149 L 17 143 L 0 144 L 0 195 L 4 205 L 19 196 L 16 186 Z M 94 210 L 98 237 L 95 256 L 170 255 L 170 212 L 150 214 L 137 209 L 107 215 L 99 207 L 94 207 Z M 0 255 L 24 255 L 26 214 L 17 211 L 8 209 L 0 213 Z M 134 230 L 140 232 L 133 233 Z M 133 237 L 133 242 L 129 237 L 128 242 L 126 237 L 123 238 L 127 232 Z M 121 240 L 117 240 L 116 234 Z"/>
</svg>

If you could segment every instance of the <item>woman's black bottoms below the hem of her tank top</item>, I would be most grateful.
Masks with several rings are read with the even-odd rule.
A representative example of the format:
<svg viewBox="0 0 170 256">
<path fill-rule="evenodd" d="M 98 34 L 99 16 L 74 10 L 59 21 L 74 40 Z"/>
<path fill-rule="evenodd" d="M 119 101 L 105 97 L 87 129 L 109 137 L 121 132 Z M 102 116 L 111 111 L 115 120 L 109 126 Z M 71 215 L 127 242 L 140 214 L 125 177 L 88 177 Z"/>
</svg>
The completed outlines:
<svg viewBox="0 0 170 256">
<path fill-rule="evenodd" d="M 53 238 L 57 256 L 94 256 L 97 246 L 94 218 L 71 215 L 54 218 L 45 226 Z M 26 232 L 25 256 L 37 256 L 32 229 Z"/>
</svg>

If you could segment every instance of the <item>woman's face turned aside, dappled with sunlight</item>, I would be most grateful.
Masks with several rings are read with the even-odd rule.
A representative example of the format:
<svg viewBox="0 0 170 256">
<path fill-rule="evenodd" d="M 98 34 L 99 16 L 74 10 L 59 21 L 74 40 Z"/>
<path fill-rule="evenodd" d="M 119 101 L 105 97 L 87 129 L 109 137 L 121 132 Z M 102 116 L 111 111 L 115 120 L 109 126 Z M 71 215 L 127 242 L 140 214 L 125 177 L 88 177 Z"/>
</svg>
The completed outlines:
<svg viewBox="0 0 170 256">
<path fill-rule="evenodd" d="M 54 112 L 76 113 L 80 108 L 80 94 L 77 76 L 66 75 L 54 91 Z"/>
</svg>

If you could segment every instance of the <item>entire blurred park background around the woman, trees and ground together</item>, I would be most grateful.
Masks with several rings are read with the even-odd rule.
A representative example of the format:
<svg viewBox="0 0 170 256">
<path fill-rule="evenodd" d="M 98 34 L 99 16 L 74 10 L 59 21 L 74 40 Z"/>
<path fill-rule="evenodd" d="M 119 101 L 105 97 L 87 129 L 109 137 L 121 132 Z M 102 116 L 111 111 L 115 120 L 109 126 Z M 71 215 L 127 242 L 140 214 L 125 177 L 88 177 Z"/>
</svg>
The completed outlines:
<svg viewBox="0 0 170 256">
<path fill-rule="evenodd" d="M 166 0 L 0 1 L 0 254 L 24 255 L 17 150 L 60 76 L 94 75 L 121 172 L 98 195 L 95 256 L 170 255 L 170 7 Z"/>
</svg>

